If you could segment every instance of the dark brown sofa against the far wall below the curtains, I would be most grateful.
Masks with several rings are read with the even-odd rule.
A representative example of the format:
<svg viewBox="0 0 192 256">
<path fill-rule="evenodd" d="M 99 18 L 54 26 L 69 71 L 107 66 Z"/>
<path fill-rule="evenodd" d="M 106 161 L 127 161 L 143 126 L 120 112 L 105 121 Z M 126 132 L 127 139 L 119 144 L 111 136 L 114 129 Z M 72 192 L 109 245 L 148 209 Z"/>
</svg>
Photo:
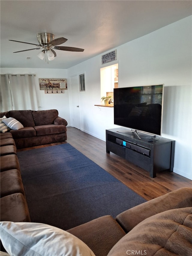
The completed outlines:
<svg viewBox="0 0 192 256">
<path fill-rule="evenodd" d="M 17 149 L 67 140 L 67 121 L 58 116 L 58 110 L 10 110 L 0 117 L 13 117 L 24 128 L 10 130 Z"/>
</svg>

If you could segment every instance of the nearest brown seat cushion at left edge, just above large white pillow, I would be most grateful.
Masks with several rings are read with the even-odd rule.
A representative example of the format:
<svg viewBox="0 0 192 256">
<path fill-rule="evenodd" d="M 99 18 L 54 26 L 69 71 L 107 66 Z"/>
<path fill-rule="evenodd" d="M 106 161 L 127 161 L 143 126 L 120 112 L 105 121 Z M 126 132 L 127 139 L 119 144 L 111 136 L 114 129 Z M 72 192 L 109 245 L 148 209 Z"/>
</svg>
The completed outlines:
<svg viewBox="0 0 192 256">
<path fill-rule="evenodd" d="M 21 193 L 1 197 L 1 221 L 31 221 L 26 198 Z"/>
</svg>

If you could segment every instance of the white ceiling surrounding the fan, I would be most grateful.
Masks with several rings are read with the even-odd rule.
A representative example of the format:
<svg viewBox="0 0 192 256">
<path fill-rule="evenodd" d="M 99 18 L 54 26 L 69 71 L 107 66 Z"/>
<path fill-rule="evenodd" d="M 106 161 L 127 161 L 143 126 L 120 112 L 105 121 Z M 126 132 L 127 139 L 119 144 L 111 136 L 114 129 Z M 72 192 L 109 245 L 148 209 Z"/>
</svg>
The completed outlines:
<svg viewBox="0 0 192 256">
<path fill-rule="evenodd" d="M 69 68 L 191 15 L 191 3 L 184 0 L 0 1 L 1 68 Z M 57 57 L 48 65 L 45 59 L 37 57 L 40 50 L 13 53 L 35 46 L 9 39 L 38 44 L 36 35 L 40 32 L 67 38 L 61 46 L 85 50 L 55 50 Z"/>
</svg>

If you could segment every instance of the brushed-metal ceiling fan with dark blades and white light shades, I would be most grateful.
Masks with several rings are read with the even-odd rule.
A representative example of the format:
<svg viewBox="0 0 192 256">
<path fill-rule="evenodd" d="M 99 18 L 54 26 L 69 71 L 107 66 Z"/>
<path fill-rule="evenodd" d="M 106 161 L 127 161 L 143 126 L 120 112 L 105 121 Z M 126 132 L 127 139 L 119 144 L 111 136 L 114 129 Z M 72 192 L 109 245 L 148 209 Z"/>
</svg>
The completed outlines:
<svg viewBox="0 0 192 256">
<path fill-rule="evenodd" d="M 76 47 L 58 46 L 59 44 L 65 43 L 67 41 L 67 39 L 64 37 L 54 39 L 54 35 L 51 33 L 46 33 L 46 32 L 38 33 L 37 39 L 38 39 L 39 44 L 26 43 L 26 42 L 21 42 L 21 41 L 16 41 L 16 40 L 9 40 L 9 41 L 23 43 L 23 44 L 32 44 L 32 45 L 38 46 L 38 48 L 22 50 L 22 51 L 17 51 L 17 52 L 13 52 L 13 53 L 20 53 L 20 52 L 25 52 L 25 51 L 30 51 L 30 50 L 43 49 L 38 53 L 38 57 L 40 59 L 44 59 L 44 56 L 46 56 L 46 55 L 47 55 L 48 60 L 55 59 L 55 57 L 57 55 L 54 50 L 71 51 L 71 52 L 83 52 L 84 51 L 84 49 L 76 48 Z"/>
</svg>

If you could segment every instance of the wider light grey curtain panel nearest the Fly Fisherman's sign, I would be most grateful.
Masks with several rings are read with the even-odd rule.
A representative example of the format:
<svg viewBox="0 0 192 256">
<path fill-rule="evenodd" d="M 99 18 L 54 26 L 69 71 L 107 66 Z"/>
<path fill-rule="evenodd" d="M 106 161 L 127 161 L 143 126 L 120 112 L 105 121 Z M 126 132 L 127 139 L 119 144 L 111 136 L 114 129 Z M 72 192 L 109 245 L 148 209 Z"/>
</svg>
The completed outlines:
<svg viewBox="0 0 192 256">
<path fill-rule="evenodd" d="M 7 75 L 6 75 L 7 76 Z M 34 75 L 8 75 L 13 110 L 38 110 Z M 7 85 L 8 86 L 8 85 Z M 7 88 L 6 88 L 7 89 Z M 3 95 L 5 92 L 3 93 Z M 2 98 L 4 106 L 4 98 Z M 4 106 L 5 111 L 10 110 Z M 2 112 L 2 110 L 1 110 Z"/>
</svg>

